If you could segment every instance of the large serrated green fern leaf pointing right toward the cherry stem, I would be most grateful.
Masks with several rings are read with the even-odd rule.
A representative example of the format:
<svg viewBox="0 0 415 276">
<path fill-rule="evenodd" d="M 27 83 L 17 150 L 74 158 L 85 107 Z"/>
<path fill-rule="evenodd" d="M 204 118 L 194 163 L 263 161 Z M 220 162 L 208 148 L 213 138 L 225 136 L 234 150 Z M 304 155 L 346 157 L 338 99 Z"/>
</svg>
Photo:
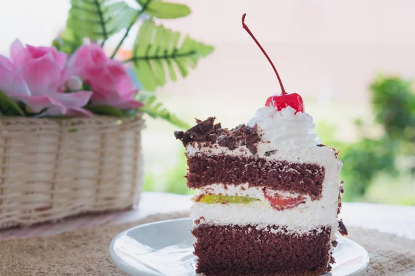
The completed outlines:
<svg viewBox="0 0 415 276">
<path fill-rule="evenodd" d="M 214 50 L 212 46 L 195 41 L 189 36 L 179 44 L 180 37 L 179 32 L 162 25 L 156 26 L 152 20 L 142 23 L 133 46 L 131 61 L 137 79 L 145 90 L 154 91 L 157 87 L 164 86 L 167 70 L 172 81 L 176 81 L 177 71 L 182 77 L 186 77 L 201 57 L 206 57 Z"/>
</svg>

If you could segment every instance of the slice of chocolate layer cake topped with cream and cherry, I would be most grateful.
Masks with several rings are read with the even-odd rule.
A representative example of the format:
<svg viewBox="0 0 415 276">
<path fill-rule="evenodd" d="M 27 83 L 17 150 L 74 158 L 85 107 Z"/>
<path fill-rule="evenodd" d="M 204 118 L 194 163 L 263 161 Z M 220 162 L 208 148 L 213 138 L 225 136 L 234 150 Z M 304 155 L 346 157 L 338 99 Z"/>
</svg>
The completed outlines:
<svg viewBox="0 0 415 276">
<path fill-rule="evenodd" d="M 246 125 L 228 130 L 210 117 L 175 132 L 187 186 L 199 189 L 191 210 L 197 273 L 320 275 L 334 262 L 335 233 L 347 234 L 338 221 L 342 162 L 321 144 L 302 98 L 280 84 L 282 94 Z"/>
</svg>

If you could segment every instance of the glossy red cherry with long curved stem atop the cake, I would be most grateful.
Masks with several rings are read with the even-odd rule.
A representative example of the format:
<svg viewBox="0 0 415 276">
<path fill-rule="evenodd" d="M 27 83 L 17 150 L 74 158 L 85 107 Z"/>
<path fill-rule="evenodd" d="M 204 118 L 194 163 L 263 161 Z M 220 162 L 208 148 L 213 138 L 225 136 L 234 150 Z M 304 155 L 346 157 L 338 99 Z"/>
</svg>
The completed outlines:
<svg viewBox="0 0 415 276">
<path fill-rule="evenodd" d="M 266 53 L 264 48 L 262 48 L 261 44 L 255 38 L 254 34 L 252 34 L 248 26 L 246 26 L 245 17 L 246 17 L 246 13 L 242 15 L 242 28 L 245 29 L 246 32 L 248 32 L 248 34 L 252 37 L 252 39 L 254 39 L 259 49 L 261 49 L 266 59 L 268 59 L 268 61 L 270 62 L 271 66 L 274 69 L 275 75 L 277 75 L 279 86 L 281 87 L 281 94 L 272 95 L 271 97 L 269 97 L 266 100 L 265 106 L 275 106 L 275 108 L 277 108 L 278 111 L 282 110 L 283 108 L 286 108 L 287 106 L 291 106 L 292 108 L 295 109 L 296 111 L 295 113 L 304 112 L 304 103 L 303 103 L 302 97 L 298 95 L 297 93 L 288 94 L 286 92 L 286 90 L 284 89 L 284 85 L 282 84 L 281 78 L 279 77 L 279 74 L 277 72 L 277 68 L 275 68 L 273 61 L 271 61 L 270 57 L 268 57 L 268 54 Z"/>
</svg>

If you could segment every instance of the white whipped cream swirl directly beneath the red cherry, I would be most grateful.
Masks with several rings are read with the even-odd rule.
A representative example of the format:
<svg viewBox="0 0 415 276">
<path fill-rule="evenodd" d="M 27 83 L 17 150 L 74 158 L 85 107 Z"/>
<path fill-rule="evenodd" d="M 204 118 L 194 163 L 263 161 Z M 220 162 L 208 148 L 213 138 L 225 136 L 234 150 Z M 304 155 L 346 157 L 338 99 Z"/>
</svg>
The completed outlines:
<svg viewBox="0 0 415 276">
<path fill-rule="evenodd" d="M 321 144 L 313 131 L 313 117 L 305 112 L 295 112 L 291 106 L 277 112 L 272 106 L 259 108 L 248 126 L 257 124 L 261 140 L 269 141 L 270 148 L 311 148 Z"/>
</svg>

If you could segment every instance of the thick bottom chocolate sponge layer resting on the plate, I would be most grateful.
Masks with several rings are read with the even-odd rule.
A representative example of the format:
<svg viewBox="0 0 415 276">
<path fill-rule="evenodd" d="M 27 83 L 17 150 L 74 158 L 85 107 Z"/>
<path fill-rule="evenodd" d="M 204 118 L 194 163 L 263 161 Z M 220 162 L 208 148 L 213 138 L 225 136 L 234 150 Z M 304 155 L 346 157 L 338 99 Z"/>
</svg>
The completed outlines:
<svg viewBox="0 0 415 276">
<path fill-rule="evenodd" d="M 270 227 L 272 228 L 272 227 Z M 196 237 L 196 272 L 205 275 L 321 275 L 334 260 L 330 228 L 305 235 L 273 233 L 255 226 L 201 224 Z"/>
</svg>

